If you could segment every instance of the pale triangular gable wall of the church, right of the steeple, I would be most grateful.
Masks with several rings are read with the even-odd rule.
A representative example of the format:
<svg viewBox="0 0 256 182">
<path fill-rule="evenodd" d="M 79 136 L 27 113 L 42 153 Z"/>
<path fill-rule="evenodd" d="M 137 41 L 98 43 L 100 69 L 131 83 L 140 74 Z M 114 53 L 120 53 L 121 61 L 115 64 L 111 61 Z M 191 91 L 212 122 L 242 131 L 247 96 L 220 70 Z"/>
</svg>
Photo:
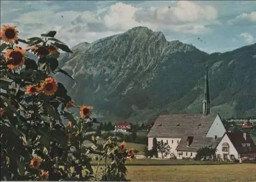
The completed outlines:
<svg viewBox="0 0 256 182">
<path fill-rule="evenodd" d="M 207 132 L 206 137 L 214 138 L 215 135 L 217 135 L 218 138 L 221 138 L 225 132 L 226 129 L 221 121 L 221 118 L 219 115 L 217 115 L 209 131 Z"/>
</svg>

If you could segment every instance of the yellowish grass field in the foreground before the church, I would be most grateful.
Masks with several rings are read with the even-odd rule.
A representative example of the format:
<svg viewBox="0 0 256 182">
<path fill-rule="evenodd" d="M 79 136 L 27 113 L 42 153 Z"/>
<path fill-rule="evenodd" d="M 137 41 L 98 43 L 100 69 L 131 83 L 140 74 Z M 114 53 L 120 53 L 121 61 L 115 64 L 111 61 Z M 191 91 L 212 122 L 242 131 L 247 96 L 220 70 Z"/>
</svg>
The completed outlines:
<svg viewBox="0 0 256 182">
<path fill-rule="evenodd" d="M 131 181 L 252 182 L 255 164 L 201 166 L 127 166 Z"/>
</svg>

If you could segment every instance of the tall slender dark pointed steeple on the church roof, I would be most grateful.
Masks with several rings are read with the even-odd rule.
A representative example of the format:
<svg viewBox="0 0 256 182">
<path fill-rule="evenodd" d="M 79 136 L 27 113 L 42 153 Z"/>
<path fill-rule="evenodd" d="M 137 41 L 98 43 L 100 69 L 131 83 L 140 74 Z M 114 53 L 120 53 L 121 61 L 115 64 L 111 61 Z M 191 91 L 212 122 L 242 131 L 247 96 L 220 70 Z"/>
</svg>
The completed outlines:
<svg viewBox="0 0 256 182">
<path fill-rule="evenodd" d="M 206 66 L 205 83 L 204 83 L 204 100 L 203 100 L 203 115 L 207 116 L 210 113 L 210 93 L 208 80 L 208 66 Z"/>
</svg>

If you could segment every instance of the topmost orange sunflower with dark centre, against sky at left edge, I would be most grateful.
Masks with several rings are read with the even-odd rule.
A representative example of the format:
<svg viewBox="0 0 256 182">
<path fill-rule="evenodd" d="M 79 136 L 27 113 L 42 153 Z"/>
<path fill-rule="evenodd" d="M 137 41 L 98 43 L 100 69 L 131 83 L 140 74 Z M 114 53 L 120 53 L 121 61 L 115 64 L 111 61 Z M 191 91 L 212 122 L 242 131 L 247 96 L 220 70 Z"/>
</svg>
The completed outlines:
<svg viewBox="0 0 256 182">
<path fill-rule="evenodd" d="M 18 40 L 18 30 L 15 26 L 3 25 L 3 27 L 1 28 L 0 37 L 5 42 L 16 42 Z"/>
</svg>

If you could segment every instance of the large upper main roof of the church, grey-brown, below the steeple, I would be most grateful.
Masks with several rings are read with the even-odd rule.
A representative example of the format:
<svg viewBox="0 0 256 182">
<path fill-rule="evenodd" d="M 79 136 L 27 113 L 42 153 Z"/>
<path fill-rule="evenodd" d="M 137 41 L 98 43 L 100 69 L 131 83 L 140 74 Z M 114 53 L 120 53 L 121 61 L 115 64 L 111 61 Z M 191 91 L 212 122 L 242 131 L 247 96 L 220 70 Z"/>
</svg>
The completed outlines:
<svg viewBox="0 0 256 182">
<path fill-rule="evenodd" d="M 205 138 L 217 115 L 204 116 L 202 113 L 160 115 L 147 137 L 182 138 L 197 135 Z"/>
</svg>

